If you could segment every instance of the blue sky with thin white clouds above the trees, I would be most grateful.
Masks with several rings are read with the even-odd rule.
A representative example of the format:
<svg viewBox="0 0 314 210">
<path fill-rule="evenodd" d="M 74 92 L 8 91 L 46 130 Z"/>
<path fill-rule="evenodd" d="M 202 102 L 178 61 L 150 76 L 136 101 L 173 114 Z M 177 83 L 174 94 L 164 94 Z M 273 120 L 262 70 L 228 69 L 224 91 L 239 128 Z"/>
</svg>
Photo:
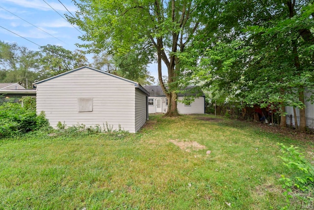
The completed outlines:
<svg viewBox="0 0 314 210">
<path fill-rule="evenodd" d="M 75 44 L 82 43 L 78 36 L 84 32 L 79 30 L 78 27 L 74 28 L 45 1 L 63 17 L 65 17 L 65 13 L 71 15 L 66 8 L 72 14 L 75 14 L 77 10 L 71 0 L 60 0 L 66 8 L 59 0 L 1 0 L 0 40 L 8 43 L 15 42 L 35 51 L 39 50 L 38 45 L 45 46 L 47 44 L 62 46 L 71 51 L 78 49 Z M 31 42 L 8 30 L 25 37 Z M 87 58 L 92 61 L 91 55 L 88 55 Z M 152 76 L 157 78 L 157 64 L 149 65 L 149 71 Z"/>
</svg>

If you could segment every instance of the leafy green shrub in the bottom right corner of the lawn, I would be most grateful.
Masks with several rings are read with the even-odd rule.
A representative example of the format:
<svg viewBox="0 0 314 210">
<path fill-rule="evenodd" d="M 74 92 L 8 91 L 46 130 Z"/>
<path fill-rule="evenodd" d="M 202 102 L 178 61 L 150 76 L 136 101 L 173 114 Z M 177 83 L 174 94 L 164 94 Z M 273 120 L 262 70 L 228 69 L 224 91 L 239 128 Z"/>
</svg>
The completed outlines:
<svg viewBox="0 0 314 210">
<path fill-rule="evenodd" d="M 278 145 L 281 146 L 283 153 L 279 157 L 290 171 L 289 177 L 281 175 L 280 179 L 285 189 L 283 195 L 287 198 L 286 208 L 294 197 L 300 199 L 305 205 L 314 204 L 314 166 L 298 151 L 298 147 L 292 145 L 286 147 L 279 143 Z"/>
</svg>

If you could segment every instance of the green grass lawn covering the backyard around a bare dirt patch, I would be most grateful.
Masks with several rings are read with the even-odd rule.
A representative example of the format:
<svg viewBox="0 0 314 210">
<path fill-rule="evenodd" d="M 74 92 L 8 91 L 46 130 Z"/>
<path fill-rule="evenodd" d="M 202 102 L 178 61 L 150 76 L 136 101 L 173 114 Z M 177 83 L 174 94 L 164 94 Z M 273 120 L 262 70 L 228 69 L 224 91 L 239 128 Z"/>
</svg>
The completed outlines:
<svg viewBox="0 0 314 210">
<path fill-rule="evenodd" d="M 285 206 L 277 142 L 313 142 L 209 115 L 150 117 L 136 134 L 27 134 L 0 140 L 0 210 L 233 209 Z M 204 150 L 180 149 L 191 142 Z M 206 151 L 210 150 L 209 155 Z M 298 204 L 293 204 L 295 209 Z"/>
</svg>

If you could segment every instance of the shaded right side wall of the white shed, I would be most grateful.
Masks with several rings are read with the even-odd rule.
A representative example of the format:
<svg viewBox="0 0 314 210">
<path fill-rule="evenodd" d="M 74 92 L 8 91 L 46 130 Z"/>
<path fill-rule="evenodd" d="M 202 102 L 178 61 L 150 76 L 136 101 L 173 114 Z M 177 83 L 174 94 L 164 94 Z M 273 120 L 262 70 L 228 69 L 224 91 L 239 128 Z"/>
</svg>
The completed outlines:
<svg viewBox="0 0 314 210">
<path fill-rule="evenodd" d="M 146 94 L 141 90 L 135 90 L 135 132 L 146 122 Z"/>
</svg>

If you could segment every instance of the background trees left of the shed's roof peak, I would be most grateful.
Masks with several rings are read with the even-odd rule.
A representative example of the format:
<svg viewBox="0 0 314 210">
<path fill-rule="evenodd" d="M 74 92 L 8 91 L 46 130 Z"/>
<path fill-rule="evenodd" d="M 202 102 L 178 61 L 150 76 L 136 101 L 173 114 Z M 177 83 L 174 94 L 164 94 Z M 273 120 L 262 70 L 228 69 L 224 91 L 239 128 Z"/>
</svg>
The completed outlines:
<svg viewBox="0 0 314 210">
<path fill-rule="evenodd" d="M 81 50 L 72 52 L 61 46 L 46 45 L 32 51 L 17 43 L 0 41 L 0 83 L 18 83 L 31 89 L 38 80 L 87 64 Z"/>
</svg>

